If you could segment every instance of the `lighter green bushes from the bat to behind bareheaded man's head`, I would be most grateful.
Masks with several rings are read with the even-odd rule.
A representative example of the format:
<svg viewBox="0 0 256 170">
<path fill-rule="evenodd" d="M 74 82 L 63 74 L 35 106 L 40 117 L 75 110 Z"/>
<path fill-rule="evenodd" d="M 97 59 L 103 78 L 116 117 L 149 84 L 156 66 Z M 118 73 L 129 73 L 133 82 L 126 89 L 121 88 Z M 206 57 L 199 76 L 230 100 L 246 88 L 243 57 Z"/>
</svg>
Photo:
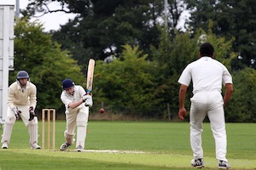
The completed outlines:
<svg viewBox="0 0 256 170">
<path fill-rule="evenodd" d="M 184 67 L 198 59 L 201 42 L 211 42 L 215 46 L 216 59 L 229 68 L 232 56 L 229 53 L 232 41 L 218 38 L 208 32 L 199 30 L 195 37 L 183 33 L 170 37 L 166 29 L 159 27 L 161 32 L 158 48 L 152 46 L 153 61 L 147 59 L 138 47 L 124 46 L 124 51 L 113 62 L 96 64 L 96 97 L 104 104 L 112 105 L 113 111 L 123 112 L 128 115 L 157 116 L 166 118 L 167 104 L 172 115 L 178 110 L 177 79 Z M 203 38 L 202 38 L 203 36 Z M 192 88 L 189 87 L 186 105 L 189 107 L 189 96 Z"/>
</svg>

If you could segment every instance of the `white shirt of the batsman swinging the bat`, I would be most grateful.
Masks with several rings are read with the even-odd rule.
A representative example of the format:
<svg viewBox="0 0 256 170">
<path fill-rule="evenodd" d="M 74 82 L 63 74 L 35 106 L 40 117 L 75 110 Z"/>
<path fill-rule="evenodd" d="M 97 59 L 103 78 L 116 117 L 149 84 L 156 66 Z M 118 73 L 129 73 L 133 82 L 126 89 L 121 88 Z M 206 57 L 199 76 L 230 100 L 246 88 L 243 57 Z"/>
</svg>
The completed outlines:
<svg viewBox="0 0 256 170">
<path fill-rule="evenodd" d="M 83 95 L 86 94 L 85 90 L 82 86 L 75 85 L 73 87 L 74 93 L 73 95 L 67 94 L 65 90 L 62 91 L 61 93 L 61 101 L 66 107 L 66 111 L 70 110 L 71 108 L 68 107 L 68 104 L 70 104 L 73 101 L 79 101 L 79 99 L 82 99 Z M 84 106 L 84 103 L 79 105 L 77 109 L 81 108 Z"/>
</svg>

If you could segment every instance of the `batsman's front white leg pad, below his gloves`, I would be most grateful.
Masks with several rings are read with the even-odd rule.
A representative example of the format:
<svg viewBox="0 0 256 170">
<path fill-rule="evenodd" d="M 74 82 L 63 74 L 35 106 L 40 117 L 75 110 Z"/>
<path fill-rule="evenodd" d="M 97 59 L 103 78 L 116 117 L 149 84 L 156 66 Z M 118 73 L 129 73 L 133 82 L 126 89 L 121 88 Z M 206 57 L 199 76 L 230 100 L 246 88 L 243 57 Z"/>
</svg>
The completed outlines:
<svg viewBox="0 0 256 170">
<path fill-rule="evenodd" d="M 86 131 L 88 123 L 88 114 L 79 113 L 77 117 L 77 142 L 76 147 L 81 145 L 84 148 Z"/>
</svg>

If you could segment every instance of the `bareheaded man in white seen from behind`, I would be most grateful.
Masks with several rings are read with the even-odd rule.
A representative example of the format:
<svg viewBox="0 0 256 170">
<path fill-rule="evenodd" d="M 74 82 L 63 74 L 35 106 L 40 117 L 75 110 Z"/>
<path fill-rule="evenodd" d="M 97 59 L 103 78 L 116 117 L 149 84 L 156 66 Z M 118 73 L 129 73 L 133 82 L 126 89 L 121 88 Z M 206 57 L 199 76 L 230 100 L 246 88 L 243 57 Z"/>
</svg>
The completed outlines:
<svg viewBox="0 0 256 170">
<path fill-rule="evenodd" d="M 213 59 L 214 48 L 211 43 L 201 44 L 200 59 L 190 63 L 183 70 L 177 82 L 181 84 L 179 89 L 179 111 L 181 119 L 187 115 L 184 100 L 189 83 L 193 82 L 193 97 L 190 99 L 189 112 L 190 144 L 194 159 L 193 167 L 204 167 L 203 149 L 201 147 L 202 122 L 209 117 L 212 134 L 215 139 L 216 158 L 218 168 L 229 169 L 227 153 L 227 136 L 224 119 L 224 105 L 230 99 L 233 91 L 232 77 L 227 68 Z M 221 94 L 222 85 L 225 87 L 224 97 Z"/>
</svg>

